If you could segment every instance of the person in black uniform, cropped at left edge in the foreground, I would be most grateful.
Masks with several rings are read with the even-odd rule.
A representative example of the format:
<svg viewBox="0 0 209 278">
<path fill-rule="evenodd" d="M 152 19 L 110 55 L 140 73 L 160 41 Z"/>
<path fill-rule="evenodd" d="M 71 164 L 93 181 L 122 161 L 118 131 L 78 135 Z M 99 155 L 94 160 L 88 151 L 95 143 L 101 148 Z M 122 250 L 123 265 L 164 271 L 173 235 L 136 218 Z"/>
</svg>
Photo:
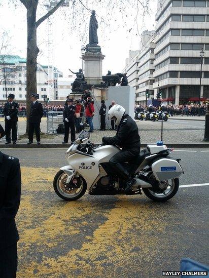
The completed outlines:
<svg viewBox="0 0 209 278">
<path fill-rule="evenodd" d="M 4 129 L 0 126 L 0 138 Z M 15 215 L 20 204 L 19 160 L 0 151 L 0 277 L 16 277 L 19 234 Z"/>
</svg>

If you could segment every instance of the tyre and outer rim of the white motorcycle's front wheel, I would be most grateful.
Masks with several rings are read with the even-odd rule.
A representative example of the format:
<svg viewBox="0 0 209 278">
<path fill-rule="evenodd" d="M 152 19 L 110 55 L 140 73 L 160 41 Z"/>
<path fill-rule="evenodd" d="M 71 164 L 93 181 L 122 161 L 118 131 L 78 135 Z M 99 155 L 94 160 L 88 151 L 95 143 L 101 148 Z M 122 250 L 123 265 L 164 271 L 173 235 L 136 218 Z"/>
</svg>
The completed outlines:
<svg viewBox="0 0 209 278">
<path fill-rule="evenodd" d="M 82 176 L 80 176 L 81 186 L 75 192 L 70 192 L 68 190 L 69 191 L 69 193 L 68 193 L 67 190 L 63 187 L 63 181 L 62 181 L 63 179 L 66 179 L 66 177 L 67 177 L 67 174 L 64 171 L 59 170 L 57 172 L 57 174 L 54 177 L 54 181 L 53 181 L 54 191 L 56 192 L 56 194 L 60 198 L 62 198 L 65 201 L 75 201 L 75 200 L 78 200 L 86 192 L 87 184 L 86 184 L 85 179 Z"/>
</svg>

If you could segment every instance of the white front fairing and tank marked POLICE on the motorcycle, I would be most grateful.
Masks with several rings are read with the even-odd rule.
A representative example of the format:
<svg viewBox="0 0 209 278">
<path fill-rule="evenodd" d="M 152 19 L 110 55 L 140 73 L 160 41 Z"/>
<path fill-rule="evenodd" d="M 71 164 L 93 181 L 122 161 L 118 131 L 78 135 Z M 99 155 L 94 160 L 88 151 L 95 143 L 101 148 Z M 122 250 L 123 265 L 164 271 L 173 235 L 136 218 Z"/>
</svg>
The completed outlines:
<svg viewBox="0 0 209 278">
<path fill-rule="evenodd" d="M 70 167 L 75 169 L 78 173 L 82 174 L 82 177 L 86 180 L 87 189 L 89 191 L 92 185 L 96 183 L 98 178 L 107 175 L 107 173 L 103 169 L 102 172 L 104 173 L 100 173 L 101 170 L 99 168 L 99 164 L 108 163 L 110 161 L 110 158 L 119 151 L 119 148 L 112 145 L 100 146 L 95 149 L 93 155 L 86 154 L 80 151 L 71 153 L 71 155 L 68 156 L 67 161 L 69 165 L 71 165 Z M 67 169 L 68 167 L 69 166 L 63 167 L 63 171 L 69 171 L 70 173 L 72 173 L 72 169 Z"/>
</svg>

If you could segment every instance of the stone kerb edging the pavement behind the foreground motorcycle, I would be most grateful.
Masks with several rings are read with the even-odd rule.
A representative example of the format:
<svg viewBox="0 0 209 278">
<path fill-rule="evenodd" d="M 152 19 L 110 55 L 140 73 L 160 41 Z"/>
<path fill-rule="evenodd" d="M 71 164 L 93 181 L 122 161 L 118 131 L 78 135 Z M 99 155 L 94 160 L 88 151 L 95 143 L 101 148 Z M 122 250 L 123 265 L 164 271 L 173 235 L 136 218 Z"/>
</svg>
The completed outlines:
<svg viewBox="0 0 209 278">
<path fill-rule="evenodd" d="M 147 143 L 141 144 L 141 147 L 144 148 L 146 147 L 148 144 L 152 145 L 153 143 Z M 209 142 L 202 142 L 202 143 L 164 143 L 167 147 L 170 148 L 209 148 Z M 98 143 L 94 144 L 95 146 L 98 146 Z M 65 148 L 67 149 L 70 146 L 70 144 L 40 144 L 40 145 L 36 145 L 36 144 L 31 144 L 31 145 L 27 145 L 27 144 L 16 144 L 16 145 L 0 145 L 0 149 L 1 148 L 9 148 L 9 149 L 18 149 L 18 148 Z"/>
</svg>

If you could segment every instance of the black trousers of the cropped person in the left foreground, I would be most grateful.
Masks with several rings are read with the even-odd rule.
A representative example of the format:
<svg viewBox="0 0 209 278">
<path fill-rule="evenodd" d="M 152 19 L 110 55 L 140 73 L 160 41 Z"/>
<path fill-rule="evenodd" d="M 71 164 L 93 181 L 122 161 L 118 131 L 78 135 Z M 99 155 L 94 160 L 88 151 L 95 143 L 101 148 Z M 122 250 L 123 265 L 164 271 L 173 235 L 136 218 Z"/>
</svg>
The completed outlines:
<svg viewBox="0 0 209 278">
<path fill-rule="evenodd" d="M 17 272 L 17 244 L 0 250 L 0 277 L 15 278 Z"/>
</svg>

